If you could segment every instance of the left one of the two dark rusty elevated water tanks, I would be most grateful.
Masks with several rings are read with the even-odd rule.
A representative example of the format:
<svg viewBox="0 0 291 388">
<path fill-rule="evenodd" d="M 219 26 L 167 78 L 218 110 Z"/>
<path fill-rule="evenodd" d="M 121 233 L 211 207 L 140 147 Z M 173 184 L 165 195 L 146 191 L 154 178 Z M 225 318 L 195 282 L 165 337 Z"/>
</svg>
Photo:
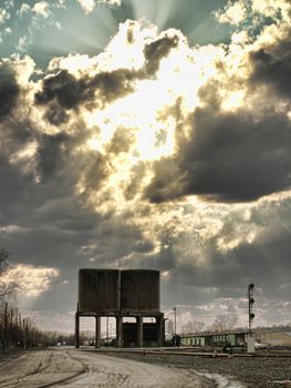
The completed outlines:
<svg viewBox="0 0 291 388">
<path fill-rule="evenodd" d="M 79 270 L 79 310 L 114 314 L 119 308 L 119 270 L 82 268 Z"/>
</svg>

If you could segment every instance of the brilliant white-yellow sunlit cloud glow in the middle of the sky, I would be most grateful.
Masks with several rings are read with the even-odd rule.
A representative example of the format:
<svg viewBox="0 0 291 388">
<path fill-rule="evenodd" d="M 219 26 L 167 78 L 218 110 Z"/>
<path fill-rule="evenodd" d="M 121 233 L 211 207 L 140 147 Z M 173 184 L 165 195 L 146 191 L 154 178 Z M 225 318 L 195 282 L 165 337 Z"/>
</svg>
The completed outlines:
<svg viewBox="0 0 291 388">
<path fill-rule="evenodd" d="M 145 47 L 153 41 L 165 40 L 167 54 L 159 58 L 154 74 L 145 76 L 147 59 Z M 111 207 L 119 212 L 131 207 L 132 201 L 139 201 L 147 184 L 154 176 L 152 163 L 163 157 L 172 157 L 177 151 L 177 139 L 189 135 L 187 118 L 196 108 L 204 104 L 200 91 L 217 76 L 220 76 L 219 95 L 225 111 L 235 111 L 243 104 L 245 90 L 239 83 L 226 88 L 225 72 L 236 76 L 237 69 L 243 59 L 241 44 L 245 35 L 233 37 L 228 52 L 222 47 L 204 45 L 190 48 L 186 38 L 177 30 L 170 29 L 159 34 L 157 28 L 145 21 L 126 21 L 119 25 L 117 34 L 111 40 L 105 51 L 94 59 L 86 55 L 71 55 L 51 63 L 51 68 L 62 67 L 79 79 L 87 73 L 94 76 L 100 71 L 116 72 L 126 69 L 133 72 L 131 91 L 113 101 L 97 103 L 96 109 L 80 110 L 80 116 L 86 123 L 89 135 L 75 152 L 85 154 L 96 152 L 107 159 L 106 175 L 98 193 L 86 192 L 85 174 L 81 174 L 76 190 L 89 196 L 89 202 L 98 212 L 107 212 Z M 121 50 L 121 47 L 123 50 Z M 159 54 L 158 54 L 159 55 Z M 155 61 L 155 57 L 153 61 Z M 225 69 L 224 69 L 225 67 Z M 222 72 L 221 72 L 222 71 Z M 245 76 L 241 72 L 241 76 Z M 207 90 L 206 90 L 207 91 Z M 96 101 L 102 99 L 95 92 Z M 184 125 L 179 125 L 176 110 L 179 109 Z M 112 152 L 116 139 L 122 133 L 123 145 Z M 117 136 L 117 137 L 116 137 Z M 108 153 L 110 151 L 110 153 Z M 147 172 L 143 170 L 136 177 L 137 169 L 147 163 Z M 142 170 L 141 170 L 142 171 Z M 128 200 L 127 184 L 135 177 L 139 188 Z M 106 198 L 105 201 L 103 201 Z"/>
</svg>

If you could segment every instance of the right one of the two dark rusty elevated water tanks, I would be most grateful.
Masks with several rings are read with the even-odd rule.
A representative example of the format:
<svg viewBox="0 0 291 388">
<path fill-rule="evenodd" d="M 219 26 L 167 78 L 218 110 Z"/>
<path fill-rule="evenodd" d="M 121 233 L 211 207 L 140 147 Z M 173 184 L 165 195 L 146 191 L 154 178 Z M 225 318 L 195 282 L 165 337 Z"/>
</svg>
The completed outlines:
<svg viewBox="0 0 291 388">
<path fill-rule="evenodd" d="M 154 269 L 121 270 L 122 312 L 159 312 L 159 272 Z"/>
</svg>

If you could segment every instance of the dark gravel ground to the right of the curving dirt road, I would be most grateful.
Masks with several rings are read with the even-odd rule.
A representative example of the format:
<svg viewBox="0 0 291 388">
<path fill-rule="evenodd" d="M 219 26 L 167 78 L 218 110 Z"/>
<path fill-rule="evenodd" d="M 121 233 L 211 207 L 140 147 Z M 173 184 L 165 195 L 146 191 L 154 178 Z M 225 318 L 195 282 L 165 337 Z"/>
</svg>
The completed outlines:
<svg viewBox="0 0 291 388">
<path fill-rule="evenodd" d="M 144 363 L 168 367 L 194 369 L 227 376 L 231 380 L 243 382 L 251 388 L 291 387 L 291 357 L 233 357 L 211 358 L 198 356 L 156 356 L 138 354 L 119 354 L 124 357 Z M 277 382 L 276 382 L 277 381 Z M 281 382 L 279 382 L 281 381 Z M 285 381 L 284 384 L 282 381 Z"/>
</svg>

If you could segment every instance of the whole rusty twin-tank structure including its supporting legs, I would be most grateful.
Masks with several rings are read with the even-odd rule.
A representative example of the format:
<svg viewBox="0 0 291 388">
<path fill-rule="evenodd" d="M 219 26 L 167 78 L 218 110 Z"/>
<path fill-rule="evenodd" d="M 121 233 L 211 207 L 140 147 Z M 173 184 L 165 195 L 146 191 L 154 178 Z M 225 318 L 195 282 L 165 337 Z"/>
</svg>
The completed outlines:
<svg viewBox="0 0 291 388">
<path fill-rule="evenodd" d="M 95 318 L 95 347 L 101 346 L 101 317 L 116 318 L 116 346 L 164 345 L 165 321 L 159 307 L 159 272 L 154 269 L 79 270 L 75 347 L 80 347 L 80 317 Z M 135 318 L 128 325 L 124 318 Z M 154 318 L 152 324 L 144 318 Z M 128 340 L 128 338 L 131 340 Z"/>
</svg>

